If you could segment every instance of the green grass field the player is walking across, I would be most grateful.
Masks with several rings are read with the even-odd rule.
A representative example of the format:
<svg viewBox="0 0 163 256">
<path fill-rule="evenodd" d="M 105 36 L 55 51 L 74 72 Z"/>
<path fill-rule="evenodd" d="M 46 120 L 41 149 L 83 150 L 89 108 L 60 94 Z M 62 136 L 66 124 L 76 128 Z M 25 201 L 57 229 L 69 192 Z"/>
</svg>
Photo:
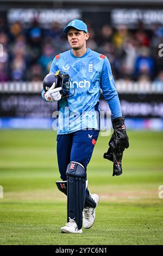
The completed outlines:
<svg viewBox="0 0 163 256">
<path fill-rule="evenodd" d="M 54 131 L 0 131 L 0 245 L 163 245 L 163 133 L 128 132 L 123 174 L 112 177 L 99 137 L 87 178 L 98 193 L 96 221 L 83 234 L 61 234 L 66 196 L 60 180 Z"/>
</svg>

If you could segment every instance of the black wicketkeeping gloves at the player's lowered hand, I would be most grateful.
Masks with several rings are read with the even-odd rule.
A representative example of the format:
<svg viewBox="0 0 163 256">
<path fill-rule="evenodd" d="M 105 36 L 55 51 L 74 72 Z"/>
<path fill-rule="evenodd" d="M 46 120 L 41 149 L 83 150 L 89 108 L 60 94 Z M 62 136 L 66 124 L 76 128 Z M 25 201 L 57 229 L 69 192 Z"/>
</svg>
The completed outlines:
<svg viewBox="0 0 163 256">
<path fill-rule="evenodd" d="M 109 149 L 104 153 L 104 159 L 113 162 L 112 176 L 122 174 L 122 156 L 124 149 L 129 147 L 129 139 L 124 125 L 124 117 L 112 119 L 114 133 L 109 141 Z"/>
</svg>

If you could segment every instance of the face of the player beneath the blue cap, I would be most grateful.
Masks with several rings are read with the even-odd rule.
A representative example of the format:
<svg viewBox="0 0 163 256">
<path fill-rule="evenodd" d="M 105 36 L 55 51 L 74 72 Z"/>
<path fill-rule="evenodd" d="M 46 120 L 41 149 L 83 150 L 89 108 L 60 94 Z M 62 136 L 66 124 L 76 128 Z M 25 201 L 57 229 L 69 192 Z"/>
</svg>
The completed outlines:
<svg viewBox="0 0 163 256">
<path fill-rule="evenodd" d="M 89 33 L 78 31 L 77 29 L 68 29 L 67 38 L 73 50 L 79 50 L 86 45 L 86 40 L 89 39 Z"/>
</svg>

